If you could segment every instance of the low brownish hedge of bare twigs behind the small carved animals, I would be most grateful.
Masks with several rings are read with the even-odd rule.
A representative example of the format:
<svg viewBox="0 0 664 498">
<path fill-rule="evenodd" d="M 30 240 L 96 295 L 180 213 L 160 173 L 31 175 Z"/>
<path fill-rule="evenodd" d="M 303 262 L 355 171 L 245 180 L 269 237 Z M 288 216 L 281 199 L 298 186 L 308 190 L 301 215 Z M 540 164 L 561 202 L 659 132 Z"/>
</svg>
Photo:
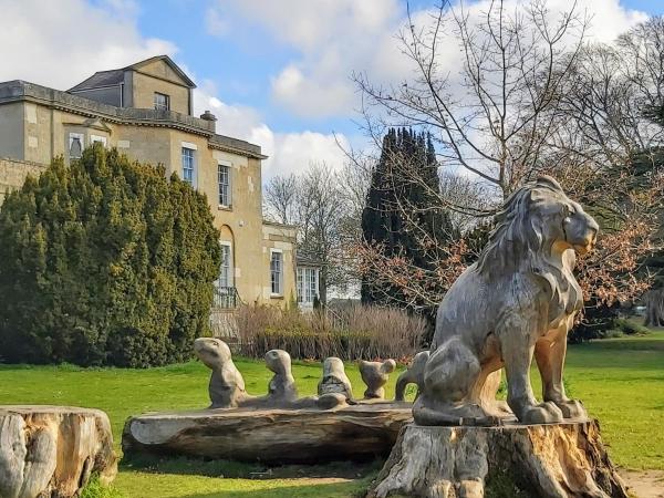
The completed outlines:
<svg viewBox="0 0 664 498">
<path fill-rule="evenodd" d="M 295 359 L 406 359 L 419 351 L 426 322 L 391 308 L 353 307 L 344 311 L 242 307 L 237 315 L 240 353 L 262 357 L 272 349 Z"/>
</svg>

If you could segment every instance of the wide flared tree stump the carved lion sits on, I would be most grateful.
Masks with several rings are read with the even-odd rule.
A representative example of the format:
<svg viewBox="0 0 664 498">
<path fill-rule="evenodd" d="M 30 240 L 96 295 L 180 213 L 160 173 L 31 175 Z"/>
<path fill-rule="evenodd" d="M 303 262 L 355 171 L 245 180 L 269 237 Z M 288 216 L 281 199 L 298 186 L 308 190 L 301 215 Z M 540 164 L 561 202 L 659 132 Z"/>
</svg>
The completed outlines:
<svg viewBox="0 0 664 498">
<path fill-rule="evenodd" d="M 627 498 L 596 421 L 405 425 L 369 497 Z"/>
</svg>

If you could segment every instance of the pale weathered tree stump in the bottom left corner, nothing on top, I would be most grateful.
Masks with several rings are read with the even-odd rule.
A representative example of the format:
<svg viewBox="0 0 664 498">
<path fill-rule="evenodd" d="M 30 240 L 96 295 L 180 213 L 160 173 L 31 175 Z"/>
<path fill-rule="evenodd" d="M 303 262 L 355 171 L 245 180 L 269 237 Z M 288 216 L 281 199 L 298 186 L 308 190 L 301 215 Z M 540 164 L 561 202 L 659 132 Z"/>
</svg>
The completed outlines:
<svg viewBox="0 0 664 498">
<path fill-rule="evenodd" d="M 98 409 L 0 406 L 0 497 L 73 497 L 93 474 L 117 474 L 111 424 Z"/>
</svg>

